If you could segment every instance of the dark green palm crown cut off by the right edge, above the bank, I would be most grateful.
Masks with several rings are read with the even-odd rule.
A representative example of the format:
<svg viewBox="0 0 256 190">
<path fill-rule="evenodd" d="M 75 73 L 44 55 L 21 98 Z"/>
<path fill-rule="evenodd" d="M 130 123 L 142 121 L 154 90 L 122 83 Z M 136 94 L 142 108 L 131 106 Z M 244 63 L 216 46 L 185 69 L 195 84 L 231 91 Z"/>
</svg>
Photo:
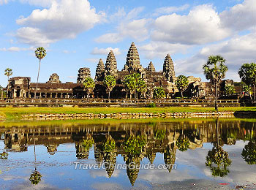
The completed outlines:
<svg viewBox="0 0 256 190">
<path fill-rule="evenodd" d="M 256 64 L 243 64 L 238 75 L 247 86 L 256 85 Z"/>
</svg>

